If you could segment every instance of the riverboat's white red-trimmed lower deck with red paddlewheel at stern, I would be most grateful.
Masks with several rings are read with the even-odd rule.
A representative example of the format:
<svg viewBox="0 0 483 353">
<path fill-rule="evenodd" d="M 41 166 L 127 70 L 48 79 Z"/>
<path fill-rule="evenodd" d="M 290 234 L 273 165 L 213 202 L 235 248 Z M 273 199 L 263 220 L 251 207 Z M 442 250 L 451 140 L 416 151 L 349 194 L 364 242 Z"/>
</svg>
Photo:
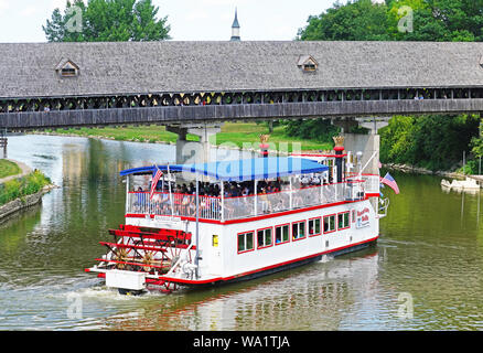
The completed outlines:
<svg viewBox="0 0 483 353">
<path fill-rule="evenodd" d="M 191 220 L 127 216 L 126 225 L 110 233 L 121 243 L 104 245 L 127 247 L 131 249 L 131 257 L 120 259 L 122 254 L 118 249 L 109 253 L 110 257 L 99 259 L 101 264 L 114 266 L 105 265 L 88 271 L 97 271 L 99 277 L 109 279 L 106 281 L 108 287 L 129 290 L 162 287 L 160 290 L 171 291 L 178 286 L 218 286 L 249 280 L 318 261 L 324 255 L 356 252 L 377 240 L 379 227 L 372 202 L 364 199 L 268 213 L 236 222 L 196 224 Z M 163 245 L 158 246 L 155 242 Z M 152 250 L 158 250 L 155 261 L 132 258 L 132 254 Z M 194 263 L 196 257 L 197 264 Z M 122 267 L 110 276 L 118 264 Z M 168 271 L 164 269 L 164 275 L 161 275 L 165 264 L 169 264 Z M 131 277 L 125 274 L 127 267 L 144 276 L 144 281 L 139 278 L 136 281 L 142 281 L 143 286 L 130 285 Z M 112 278 L 107 278 L 107 275 L 116 280 L 110 280 Z"/>
</svg>

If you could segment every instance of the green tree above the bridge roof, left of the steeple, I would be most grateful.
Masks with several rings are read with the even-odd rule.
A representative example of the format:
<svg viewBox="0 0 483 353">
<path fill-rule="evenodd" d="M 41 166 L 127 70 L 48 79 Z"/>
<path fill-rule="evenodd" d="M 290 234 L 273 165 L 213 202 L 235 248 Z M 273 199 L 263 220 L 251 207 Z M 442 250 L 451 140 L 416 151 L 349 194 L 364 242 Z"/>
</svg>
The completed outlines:
<svg viewBox="0 0 483 353">
<path fill-rule="evenodd" d="M 151 0 L 67 1 L 42 26 L 49 42 L 161 41 L 171 39 L 168 17 Z M 76 23 L 75 20 L 79 20 Z"/>
</svg>

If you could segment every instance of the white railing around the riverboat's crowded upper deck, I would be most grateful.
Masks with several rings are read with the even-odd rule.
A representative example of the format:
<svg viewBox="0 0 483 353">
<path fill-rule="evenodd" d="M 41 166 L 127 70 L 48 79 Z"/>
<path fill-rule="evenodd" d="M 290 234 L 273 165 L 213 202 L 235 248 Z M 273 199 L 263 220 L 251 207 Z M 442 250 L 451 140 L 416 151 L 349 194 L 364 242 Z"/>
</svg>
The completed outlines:
<svg viewBox="0 0 483 353">
<path fill-rule="evenodd" d="M 361 200 L 365 195 L 365 182 L 352 180 L 343 183 L 287 189 L 273 193 L 238 197 L 214 197 L 200 195 L 200 218 L 229 221 L 278 213 L 343 201 Z M 128 214 L 150 214 L 163 216 L 196 216 L 196 196 L 155 192 L 129 192 Z"/>
</svg>

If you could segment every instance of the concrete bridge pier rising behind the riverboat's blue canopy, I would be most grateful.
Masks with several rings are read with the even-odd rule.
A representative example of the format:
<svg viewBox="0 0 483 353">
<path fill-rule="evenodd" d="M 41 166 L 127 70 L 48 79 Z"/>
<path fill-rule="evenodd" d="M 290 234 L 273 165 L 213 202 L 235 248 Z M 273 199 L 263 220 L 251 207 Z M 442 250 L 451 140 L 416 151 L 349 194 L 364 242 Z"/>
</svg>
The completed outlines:
<svg viewBox="0 0 483 353">
<path fill-rule="evenodd" d="M 206 163 L 211 160 L 210 137 L 222 130 L 221 124 L 216 125 L 175 125 L 167 126 L 167 130 L 178 135 L 176 164 Z M 186 140 L 186 135 L 200 137 L 200 141 Z"/>
</svg>

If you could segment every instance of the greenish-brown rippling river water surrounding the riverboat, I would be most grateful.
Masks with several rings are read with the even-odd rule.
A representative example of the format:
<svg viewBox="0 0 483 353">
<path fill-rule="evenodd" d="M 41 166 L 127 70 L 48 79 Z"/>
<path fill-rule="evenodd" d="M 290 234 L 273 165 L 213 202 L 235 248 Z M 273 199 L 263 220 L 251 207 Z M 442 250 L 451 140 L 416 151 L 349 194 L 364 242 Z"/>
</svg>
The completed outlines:
<svg viewBox="0 0 483 353">
<path fill-rule="evenodd" d="M 118 171 L 174 159 L 174 146 L 9 138 L 9 158 L 61 186 L 0 224 L 0 330 L 481 330 L 480 194 L 391 172 L 375 247 L 251 281 L 120 296 L 84 268 L 124 222 Z"/>
</svg>

